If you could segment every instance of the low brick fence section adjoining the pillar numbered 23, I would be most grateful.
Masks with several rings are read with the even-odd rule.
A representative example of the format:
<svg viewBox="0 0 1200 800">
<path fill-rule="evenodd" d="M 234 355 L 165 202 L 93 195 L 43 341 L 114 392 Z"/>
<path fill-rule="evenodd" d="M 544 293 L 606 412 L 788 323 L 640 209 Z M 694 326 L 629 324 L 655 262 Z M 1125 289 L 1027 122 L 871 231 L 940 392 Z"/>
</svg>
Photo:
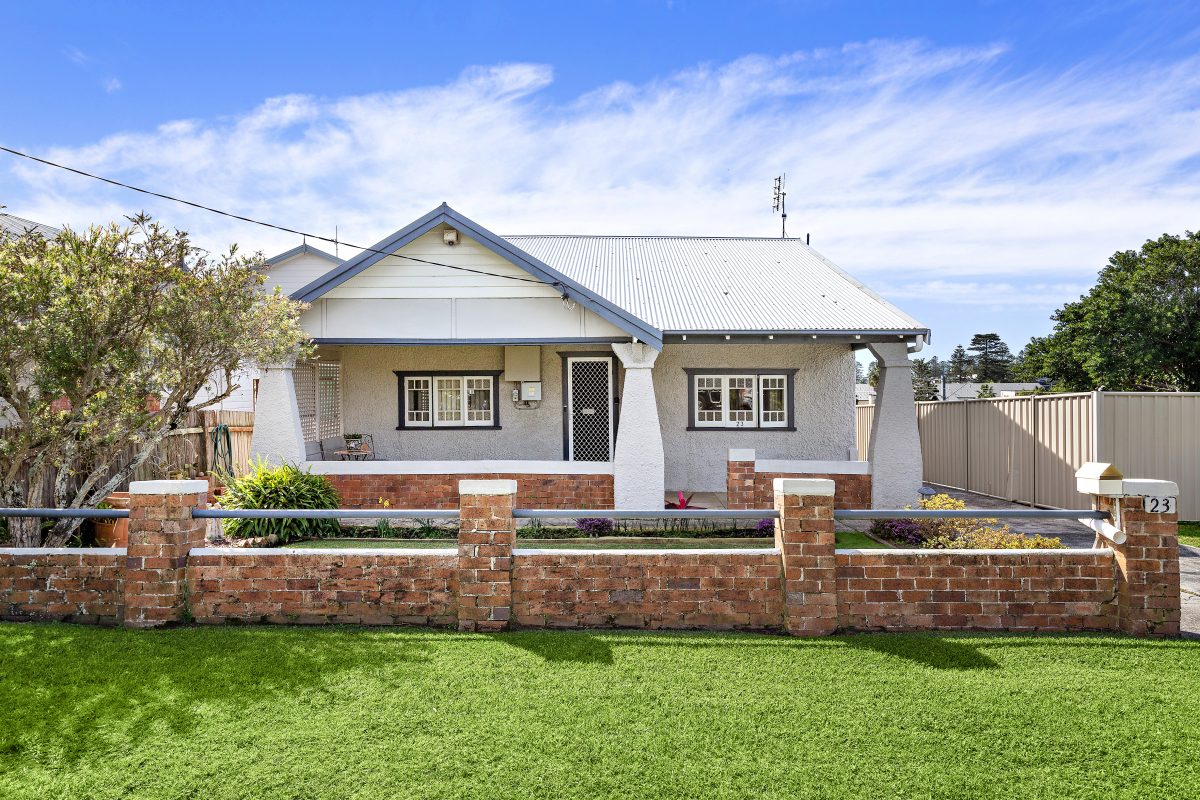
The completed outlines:
<svg viewBox="0 0 1200 800">
<path fill-rule="evenodd" d="M 838 624 L 854 630 L 1111 630 L 1110 553 L 838 553 Z"/>
</svg>

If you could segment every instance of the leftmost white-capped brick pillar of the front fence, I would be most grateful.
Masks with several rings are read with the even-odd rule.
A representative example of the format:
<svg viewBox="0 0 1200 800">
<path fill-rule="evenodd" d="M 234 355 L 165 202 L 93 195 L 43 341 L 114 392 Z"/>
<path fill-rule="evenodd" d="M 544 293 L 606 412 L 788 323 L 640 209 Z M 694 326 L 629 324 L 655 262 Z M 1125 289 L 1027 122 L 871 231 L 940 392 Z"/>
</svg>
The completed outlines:
<svg viewBox="0 0 1200 800">
<path fill-rule="evenodd" d="M 187 554 L 204 543 L 208 481 L 130 483 L 130 545 L 125 560 L 125 627 L 181 622 L 187 609 Z"/>
</svg>

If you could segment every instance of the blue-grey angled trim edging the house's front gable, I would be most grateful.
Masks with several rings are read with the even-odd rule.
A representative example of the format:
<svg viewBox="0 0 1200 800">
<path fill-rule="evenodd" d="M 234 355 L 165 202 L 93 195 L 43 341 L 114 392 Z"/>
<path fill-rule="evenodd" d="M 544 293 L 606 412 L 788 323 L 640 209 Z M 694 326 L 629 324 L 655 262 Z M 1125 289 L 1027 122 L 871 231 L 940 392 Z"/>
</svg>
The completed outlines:
<svg viewBox="0 0 1200 800">
<path fill-rule="evenodd" d="M 628 331 L 630 336 L 634 336 L 647 344 L 653 345 L 655 349 L 662 349 L 662 333 L 658 329 L 653 327 L 644 320 L 641 320 L 623 308 L 618 308 L 607 300 L 595 295 L 590 290 L 586 289 L 583 285 L 576 283 L 571 278 L 566 277 L 558 270 L 554 270 L 548 264 L 545 264 L 523 249 L 504 241 L 492 231 L 487 230 L 482 225 L 468 219 L 462 216 L 449 205 L 443 203 L 438 207 L 433 209 L 424 217 L 409 223 L 408 225 L 401 228 L 391 236 L 383 239 L 371 246 L 371 249 L 362 251 L 354 258 L 350 258 L 341 264 L 341 266 L 320 276 L 308 285 L 301 288 L 299 291 L 294 293 L 292 296 L 295 300 L 302 300 L 304 302 L 312 302 L 313 300 L 320 297 L 323 294 L 334 289 L 335 287 L 349 281 L 359 272 L 362 272 L 371 265 L 384 258 L 383 253 L 392 253 L 394 251 L 403 247 L 410 241 L 415 240 L 443 222 L 454 225 L 455 228 L 463 230 L 472 239 L 476 240 L 484 247 L 488 248 L 497 255 L 508 259 L 516 266 L 520 266 L 529 275 L 540 278 L 541 281 L 552 284 L 560 285 L 569 290 L 568 294 L 572 300 L 580 302 L 583 307 L 594 312 L 602 319 L 612 323 L 617 327 Z M 382 252 L 372 252 L 382 251 Z"/>
</svg>

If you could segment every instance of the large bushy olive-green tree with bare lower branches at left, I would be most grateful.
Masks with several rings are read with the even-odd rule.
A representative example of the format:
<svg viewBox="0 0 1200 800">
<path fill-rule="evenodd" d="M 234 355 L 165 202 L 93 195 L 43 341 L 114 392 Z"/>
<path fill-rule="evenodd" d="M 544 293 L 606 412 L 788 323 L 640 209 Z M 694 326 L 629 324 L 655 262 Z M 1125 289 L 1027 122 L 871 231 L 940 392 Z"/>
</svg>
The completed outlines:
<svg viewBox="0 0 1200 800">
<path fill-rule="evenodd" d="M 262 255 L 131 222 L 0 237 L 0 505 L 95 507 L 240 367 L 311 348 L 302 305 L 259 289 Z M 192 405 L 214 373 L 226 391 Z M 12 518 L 10 537 L 62 546 L 79 523 Z"/>
</svg>

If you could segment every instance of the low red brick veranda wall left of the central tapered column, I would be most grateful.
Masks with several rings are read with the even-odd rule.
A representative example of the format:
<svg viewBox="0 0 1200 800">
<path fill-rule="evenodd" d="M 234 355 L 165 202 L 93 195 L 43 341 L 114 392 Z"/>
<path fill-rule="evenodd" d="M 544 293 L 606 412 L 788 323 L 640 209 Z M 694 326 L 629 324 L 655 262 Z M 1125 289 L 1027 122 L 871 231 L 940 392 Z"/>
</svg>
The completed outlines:
<svg viewBox="0 0 1200 800">
<path fill-rule="evenodd" d="M 343 509 L 457 509 L 458 481 L 515 480 L 518 509 L 611 509 L 612 475 L 328 475 Z"/>
</svg>

